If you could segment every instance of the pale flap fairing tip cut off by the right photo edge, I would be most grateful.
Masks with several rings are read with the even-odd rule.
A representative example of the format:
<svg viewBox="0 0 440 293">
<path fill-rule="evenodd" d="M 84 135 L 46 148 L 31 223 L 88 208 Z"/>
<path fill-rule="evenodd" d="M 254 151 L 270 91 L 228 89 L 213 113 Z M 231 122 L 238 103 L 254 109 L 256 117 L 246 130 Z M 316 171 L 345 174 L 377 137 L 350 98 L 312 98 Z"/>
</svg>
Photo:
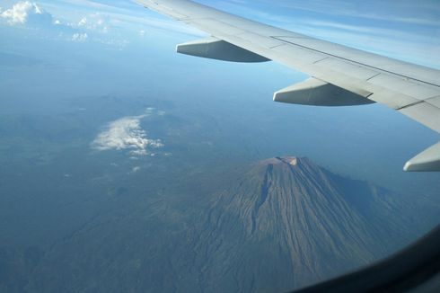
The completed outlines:
<svg viewBox="0 0 440 293">
<path fill-rule="evenodd" d="M 440 171 L 440 142 L 410 159 L 403 167 L 408 172 Z"/>
</svg>

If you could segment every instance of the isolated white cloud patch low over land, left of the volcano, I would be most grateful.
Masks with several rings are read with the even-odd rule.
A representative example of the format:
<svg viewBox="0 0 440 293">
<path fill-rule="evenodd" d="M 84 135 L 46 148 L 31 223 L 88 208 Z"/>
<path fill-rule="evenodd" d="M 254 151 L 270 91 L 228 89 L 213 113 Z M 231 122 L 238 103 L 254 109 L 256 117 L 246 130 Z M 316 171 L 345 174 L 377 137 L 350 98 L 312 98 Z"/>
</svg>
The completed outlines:
<svg viewBox="0 0 440 293">
<path fill-rule="evenodd" d="M 154 155 L 151 148 L 163 147 L 160 139 L 146 137 L 146 132 L 140 126 L 140 121 L 151 114 L 148 108 L 144 115 L 128 116 L 115 120 L 107 125 L 92 142 L 92 147 L 97 150 L 130 150 L 131 155 Z"/>
</svg>

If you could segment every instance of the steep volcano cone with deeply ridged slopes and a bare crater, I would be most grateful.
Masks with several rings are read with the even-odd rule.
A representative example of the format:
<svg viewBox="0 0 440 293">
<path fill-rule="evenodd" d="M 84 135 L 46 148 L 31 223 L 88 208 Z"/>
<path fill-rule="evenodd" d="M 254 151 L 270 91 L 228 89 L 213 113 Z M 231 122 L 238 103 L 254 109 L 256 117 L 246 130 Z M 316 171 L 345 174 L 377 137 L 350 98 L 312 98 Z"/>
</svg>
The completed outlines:
<svg viewBox="0 0 440 293">
<path fill-rule="evenodd" d="M 372 262 L 405 239 L 396 196 L 307 158 L 251 166 L 211 202 L 197 244 L 207 291 L 286 291 Z"/>
</svg>

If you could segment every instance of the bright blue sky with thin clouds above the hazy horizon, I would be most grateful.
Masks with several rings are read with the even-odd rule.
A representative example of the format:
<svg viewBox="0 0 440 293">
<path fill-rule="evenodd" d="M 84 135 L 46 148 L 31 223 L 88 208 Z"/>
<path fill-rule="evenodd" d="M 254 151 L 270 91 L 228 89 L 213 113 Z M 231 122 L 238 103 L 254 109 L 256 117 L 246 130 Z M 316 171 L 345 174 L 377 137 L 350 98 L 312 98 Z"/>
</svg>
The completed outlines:
<svg viewBox="0 0 440 293">
<path fill-rule="evenodd" d="M 440 67 L 440 60 L 436 58 L 436 53 L 440 51 L 440 4 L 436 0 L 418 1 L 417 4 L 408 0 L 199 2 L 358 49 Z M 28 2 L 40 7 L 40 13 L 32 11 L 29 5 L 23 8 L 24 3 L 0 1 L 3 26 L 44 26 L 48 29 L 49 22 L 57 22 L 52 29 L 58 32 L 75 30 L 71 40 L 101 41 L 119 47 L 145 37 L 145 33 L 154 35 L 163 30 L 203 35 L 190 27 L 148 12 L 129 0 Z M 16 12 L 14 16 L 7 13 L 12 8 Z M 27 16 L 22 16 L 21 11 Z"/>
</svg>

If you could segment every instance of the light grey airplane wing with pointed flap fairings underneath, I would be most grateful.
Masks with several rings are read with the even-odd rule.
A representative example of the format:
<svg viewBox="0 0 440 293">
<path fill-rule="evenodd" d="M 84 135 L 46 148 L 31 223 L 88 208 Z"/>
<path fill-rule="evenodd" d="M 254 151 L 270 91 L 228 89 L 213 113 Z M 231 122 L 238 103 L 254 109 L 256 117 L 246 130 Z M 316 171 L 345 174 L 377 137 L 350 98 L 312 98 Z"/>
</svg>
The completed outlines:
<svg viewBox="0 0 440 293">
<path fill-rule="evenodd" d="M 274 101 L 318 106 L 380 102 L 440 132 L 440 71 L 386 58 L 224 13 L 189 0 L 137 0 L 210 37 L 177 51 L 235 62 L 273 60 L 310 75 Z M 386 127 L 386 126 L 385 126 Z M 440 171 L 440 142 L 410 159 L 405 171 Z"/>
</svg>

